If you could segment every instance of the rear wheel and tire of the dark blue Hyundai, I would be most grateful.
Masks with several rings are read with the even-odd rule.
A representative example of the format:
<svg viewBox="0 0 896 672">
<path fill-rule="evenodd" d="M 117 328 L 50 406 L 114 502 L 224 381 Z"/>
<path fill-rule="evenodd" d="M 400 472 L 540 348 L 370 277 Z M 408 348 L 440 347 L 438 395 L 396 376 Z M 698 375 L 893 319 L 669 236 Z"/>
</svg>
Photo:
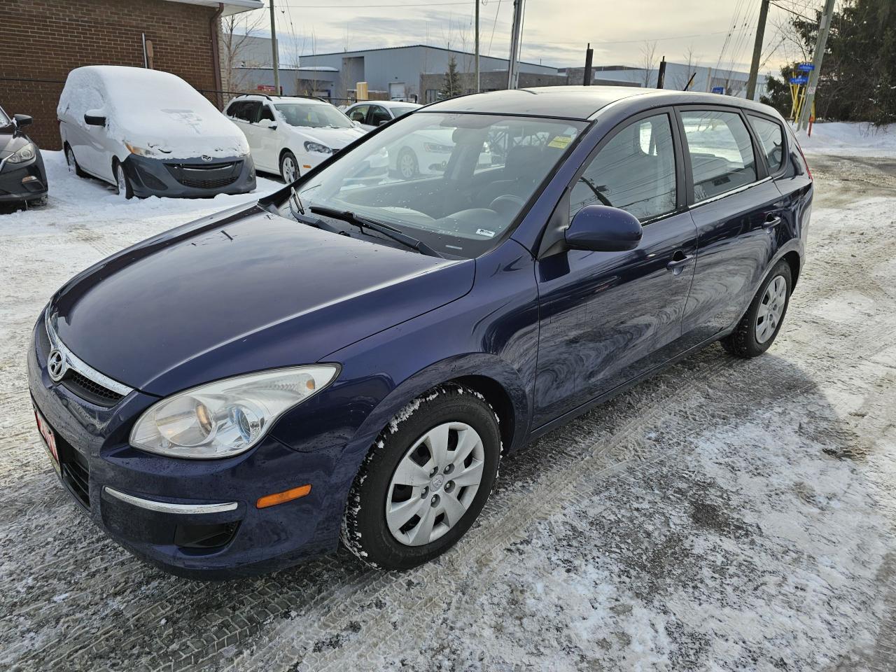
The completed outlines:
<svg viewBox="0 0 896 672">
<path fill-rule="evenodd" d="M 778 336 L 790 302 L 793 280 L 790 264 L 781 260 L 772 269 L 734 332 L 721 340 L 722 347 L 737 357 L 758 357 Z"/>
</svg>

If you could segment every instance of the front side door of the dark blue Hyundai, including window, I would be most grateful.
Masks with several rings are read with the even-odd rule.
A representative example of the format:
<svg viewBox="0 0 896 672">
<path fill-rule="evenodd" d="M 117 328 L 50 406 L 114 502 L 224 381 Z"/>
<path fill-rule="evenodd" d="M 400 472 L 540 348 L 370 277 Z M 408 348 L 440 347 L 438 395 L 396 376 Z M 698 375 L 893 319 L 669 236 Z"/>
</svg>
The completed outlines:
<svg viewBox="0 0 896 672">
<path fill-rule="evenodd" d="M 567 250 L 536 263 L 533 427 L 679 351 L 697 246 L 680 167 L 672 111 L 652 112 L 602 141 L 567 192 L 571 217 L 585 205 L 611 205 L 642 221 L 643 238 L 629 252 Z"/>
</svg>

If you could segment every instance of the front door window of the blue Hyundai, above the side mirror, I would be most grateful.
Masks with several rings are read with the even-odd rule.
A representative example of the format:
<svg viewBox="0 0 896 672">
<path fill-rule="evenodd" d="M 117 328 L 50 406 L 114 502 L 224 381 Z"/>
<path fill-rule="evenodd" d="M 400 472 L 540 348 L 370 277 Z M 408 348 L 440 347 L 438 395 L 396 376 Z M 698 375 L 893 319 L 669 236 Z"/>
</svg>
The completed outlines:
<svg viewBox="0 0 896 672">
<path fill-rule="evenodd" d="M 676 208 L 675 143 L 666 114 L 625 126 L 573 185 L 570 217 L 586 205 L 609 205 L 641 221 Z"/>
</svg>

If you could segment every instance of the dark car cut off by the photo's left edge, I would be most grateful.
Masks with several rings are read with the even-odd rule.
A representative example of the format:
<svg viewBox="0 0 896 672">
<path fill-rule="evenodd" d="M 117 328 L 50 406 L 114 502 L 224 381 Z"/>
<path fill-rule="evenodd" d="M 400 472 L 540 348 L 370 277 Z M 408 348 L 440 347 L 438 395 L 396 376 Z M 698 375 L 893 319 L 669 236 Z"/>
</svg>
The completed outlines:
<svg viewBox="0 0 896 672">
<path fill-rule="evenodd" d="M 0 108 L 0 203 L 47 204 L 47 171 L 36 142 L 22 131 L 28 115 L 10 118 Z"/>
</svg>

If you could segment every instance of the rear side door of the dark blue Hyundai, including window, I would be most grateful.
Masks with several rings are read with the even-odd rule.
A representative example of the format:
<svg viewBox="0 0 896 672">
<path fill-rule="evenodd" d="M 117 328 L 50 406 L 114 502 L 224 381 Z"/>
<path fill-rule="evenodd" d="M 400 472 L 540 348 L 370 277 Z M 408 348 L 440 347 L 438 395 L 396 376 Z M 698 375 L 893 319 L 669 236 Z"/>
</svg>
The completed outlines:
<svg viewBox="0 0 896 672">
<path fill-rule="evenodd" d="M 697 227 L 694 285 L 682 329 L 688 345 L 737 323 L 772 256 L 783 199 L 737 108 L 677 108 Z"/>
</svg>

